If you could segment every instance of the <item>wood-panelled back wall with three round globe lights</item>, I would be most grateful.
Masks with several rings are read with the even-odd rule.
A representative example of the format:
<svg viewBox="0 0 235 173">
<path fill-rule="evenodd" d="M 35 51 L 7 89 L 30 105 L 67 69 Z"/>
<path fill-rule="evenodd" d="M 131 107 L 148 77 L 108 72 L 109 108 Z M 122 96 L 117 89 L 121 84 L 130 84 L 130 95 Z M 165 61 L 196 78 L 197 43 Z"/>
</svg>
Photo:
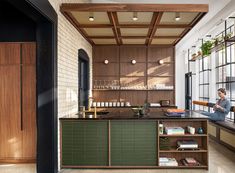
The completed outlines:
<svg viewBox="0 0 235 173">
<path fill-rule="evenodd" d="M 109 64 L 105 65 L 104 60 Z M 131 64 L 131 60 L 136 64 Z M 160 65 L 159 60 L 164 64 Z M 97 81 L 116 80 L 121 86 L 149 87 L 165 83 L 175 85 L 174 47 L 123 45 L 100 45 L 93 47 L 93 84 Z M 94 82 L 95 81 L 95 82 Z M 175 91 L 146 91 L 146 90 L 93 90 L 94 101 L 128 101 L 131 105 L 142 105 L 148 102 L 170 100 L 175 103 Z"/>
</svg>

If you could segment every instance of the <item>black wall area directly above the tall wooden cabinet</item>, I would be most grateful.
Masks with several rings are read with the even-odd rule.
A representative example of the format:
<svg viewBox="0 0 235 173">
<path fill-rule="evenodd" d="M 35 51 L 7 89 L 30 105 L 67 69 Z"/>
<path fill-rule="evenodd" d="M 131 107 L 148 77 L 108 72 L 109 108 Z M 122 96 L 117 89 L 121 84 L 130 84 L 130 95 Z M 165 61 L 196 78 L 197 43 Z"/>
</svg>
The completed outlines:
<svg viewBox="0 0 235 173">
<path fill-rule="evenodd" d="M 36 41 L 36 23 L 5 1 L 0 5 L 0 21 L 1 42 Z"/>
</svg>

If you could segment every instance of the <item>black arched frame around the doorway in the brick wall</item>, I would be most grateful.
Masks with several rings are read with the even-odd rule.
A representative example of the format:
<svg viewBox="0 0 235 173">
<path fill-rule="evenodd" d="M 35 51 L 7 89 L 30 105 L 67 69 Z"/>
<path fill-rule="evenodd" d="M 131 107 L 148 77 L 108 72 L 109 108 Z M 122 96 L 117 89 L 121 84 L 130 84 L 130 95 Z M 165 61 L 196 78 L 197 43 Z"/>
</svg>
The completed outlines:
<svg viewBox="0 0 235 173">
<path fill-rule="evenodd" d="M 80 107 L 80 97 L 81 97 L 81 94 L 80 94 L 80 83 L 81 83 L 81 77 L 80 77 L 80 62 L 81 61 L 85 61 L 87 63 L 87 99 L 89 99 L 89 90 L 90 90 L 90 59 L 89 59 L 89 56 L 88 54 L 86 53 L 86 51 L 84 49 L 79 49 L 78 50 L 78 80 L 79 80 L 79 83 L 78 83 L 78 108 Z M 88 107 L 88 102 L 86 103 L 86 108 Z"/>
</svg>

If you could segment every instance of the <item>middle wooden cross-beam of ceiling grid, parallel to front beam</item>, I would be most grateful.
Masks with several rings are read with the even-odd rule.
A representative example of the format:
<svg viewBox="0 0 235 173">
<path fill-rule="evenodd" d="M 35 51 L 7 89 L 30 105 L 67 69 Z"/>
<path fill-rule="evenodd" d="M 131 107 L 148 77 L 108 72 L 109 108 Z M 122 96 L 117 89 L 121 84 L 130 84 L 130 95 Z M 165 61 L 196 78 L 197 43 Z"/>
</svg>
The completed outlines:
<svg viewBox="0 0 235 173">
<path fill-rule="evenodd" d="M 113 28 L 111 24 L 80 24 L 80 28 Z M 117 28 L 150 28 L 149 24 L 119 24 Z M 158 28 L 192 28 L 189 25 L 182 25 L 182 24 L 159 24 L 157 25 Z"/>
</svg>

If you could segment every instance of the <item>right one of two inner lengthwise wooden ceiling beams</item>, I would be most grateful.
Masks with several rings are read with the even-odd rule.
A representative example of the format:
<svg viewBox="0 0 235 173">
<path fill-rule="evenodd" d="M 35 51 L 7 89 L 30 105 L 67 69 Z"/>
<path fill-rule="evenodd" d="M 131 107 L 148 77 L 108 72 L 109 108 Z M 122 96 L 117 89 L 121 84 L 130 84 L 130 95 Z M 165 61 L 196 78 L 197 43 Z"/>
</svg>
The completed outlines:
<svg viewBox="0 0 235 173">
<path fill-rule="evenodd" d="M 146 40 L 145 44 L 146 45 L 150 45 L 152 40 L 153 40 L 153 37 L 155 35 L 155 32 L 157 30 L 157 25 L 160 23 L 161 21 L 161 18 L 162 18 L 162 15 L 163 13 L 162 12 L 155 12 L 154 15 L 153 15 L 153 18 L 152 18 L 152 21 L 151 21 L 151 26 L 153 27 L 152 29 L 149 29 L 149 32 L 148 32 L 148 37 L 149 39 Z"/>
</svg>

